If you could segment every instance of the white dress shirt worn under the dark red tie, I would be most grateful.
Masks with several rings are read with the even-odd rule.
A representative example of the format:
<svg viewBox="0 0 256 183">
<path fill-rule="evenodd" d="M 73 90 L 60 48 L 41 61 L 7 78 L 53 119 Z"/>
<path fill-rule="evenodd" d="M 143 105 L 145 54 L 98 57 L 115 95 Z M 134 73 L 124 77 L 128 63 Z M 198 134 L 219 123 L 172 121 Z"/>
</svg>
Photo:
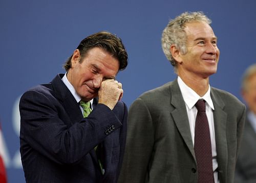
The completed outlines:
<svg viewBox="0 0 256 183">
<path fill-rule="evenodd" d="M 181 90 L 182 97 L 186 104 L 186 110 L 188 115 L 188 122 L 190 127 L 190 133 L 193 145 L 195 143 L 195 125 L 196 125 L 196 116 L 197 108 L 195 107 L 196 102 L 199 99 L 204 99 L 205 102 L 205 112 L 208 119 L 209 130 L 210 130 L 210 140 L 211 140 L 211 152 L 212 152 L 212 170 L 214 171 L 214 180 L 216 183 L 218 180 L 218 162 L 217 162 L 217 150 L 216 150 L 216 141 L 215 141 L 215 128 L 214 128 L 214 103 L 210 97 L 210 86 L 208 91 L 204 96 L 200 97 L 193 89 L 189 88 L 178 76 L 178 85 Z"/>
</svg>

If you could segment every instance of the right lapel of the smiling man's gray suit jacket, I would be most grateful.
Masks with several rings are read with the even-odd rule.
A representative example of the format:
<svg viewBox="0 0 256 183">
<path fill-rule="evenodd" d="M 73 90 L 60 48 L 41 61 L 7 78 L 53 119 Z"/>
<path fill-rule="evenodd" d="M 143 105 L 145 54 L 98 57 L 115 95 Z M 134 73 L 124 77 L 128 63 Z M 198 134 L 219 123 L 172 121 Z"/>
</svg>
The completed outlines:
<svg viewBox="0 0 256 183">
<path fill-rule="evenodd" d="M 217 148 L 217 162 L 218 169 L 220 173 L 220 179 L 226 177 L 227 170 L 227 137 L 226 137 L 226 123 L 227 123 L 227 114 L 223 110 L 225 103 L 221 100 L 221 97 L 218 95 L 217 91 L 214 88 L 211 88 L 211 99 L 214 103 L 214 125 L 215 125 L 215 139 L 216 139 L 216 148 Z M 222 180 L 226 182 L 226 180 Z"/>
</svg>

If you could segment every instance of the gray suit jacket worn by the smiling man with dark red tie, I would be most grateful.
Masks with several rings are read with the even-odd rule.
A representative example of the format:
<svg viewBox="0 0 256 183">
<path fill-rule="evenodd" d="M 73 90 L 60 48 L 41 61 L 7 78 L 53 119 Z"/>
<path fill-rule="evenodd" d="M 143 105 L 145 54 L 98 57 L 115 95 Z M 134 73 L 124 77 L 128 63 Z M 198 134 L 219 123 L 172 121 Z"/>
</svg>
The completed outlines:
<svg viewBox="0 0 256 183">
<path fill-rule="evenodd" d="M 245 106 L 211 88 L 221 183 L 232 182 Z M 177 80 L 147 91 L 130 107 L 119 183 L 196 183 L 197 163 L 185 102 Z"/>
</svg>

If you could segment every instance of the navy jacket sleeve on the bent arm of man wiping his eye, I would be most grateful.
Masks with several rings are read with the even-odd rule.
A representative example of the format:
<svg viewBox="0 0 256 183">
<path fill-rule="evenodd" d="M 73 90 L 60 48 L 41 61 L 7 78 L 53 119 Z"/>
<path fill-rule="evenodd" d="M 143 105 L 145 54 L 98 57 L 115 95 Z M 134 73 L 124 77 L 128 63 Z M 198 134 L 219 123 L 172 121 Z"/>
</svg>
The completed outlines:
<svg viewBox="0 0 256 183">
<path fill-rule="evenodd" d="M 75 106 L 74 106 L 75 107 Z M 47 92 L 28 91 L 19 103 L 20 152 L 24 159 L 35 150 L 59 164 L 73 164 L 89 153 L 122 123 L 104 104 L 79 121 L 72 121 L 61 103 Z"/>
</svg>

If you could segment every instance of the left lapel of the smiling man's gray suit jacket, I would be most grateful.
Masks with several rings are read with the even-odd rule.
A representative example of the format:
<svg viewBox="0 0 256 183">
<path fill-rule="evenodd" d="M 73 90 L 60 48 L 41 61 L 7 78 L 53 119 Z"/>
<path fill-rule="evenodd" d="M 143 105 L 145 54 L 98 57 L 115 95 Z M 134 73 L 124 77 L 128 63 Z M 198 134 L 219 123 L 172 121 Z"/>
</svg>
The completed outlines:
<svg viewBox="0 0 256 183">
<path fill-rule="evenodd" d="M 194 159 L 196 160 L 194 146 L 191 139 L 190 127 L 188 122 L 188 117 L 186 113 L 186 106 L 183 100 L 179 85 L 177 80 L 170 84 L 170 91 L 171 91 L 171 99 L 170 103 L 175 107 L 175 109 L 171 112 L 171 115 L 174 118 L 174 122 L 184 139 L 185 144 L 187 145 L 190 153 L 193 155 Z"/>
</svg>

